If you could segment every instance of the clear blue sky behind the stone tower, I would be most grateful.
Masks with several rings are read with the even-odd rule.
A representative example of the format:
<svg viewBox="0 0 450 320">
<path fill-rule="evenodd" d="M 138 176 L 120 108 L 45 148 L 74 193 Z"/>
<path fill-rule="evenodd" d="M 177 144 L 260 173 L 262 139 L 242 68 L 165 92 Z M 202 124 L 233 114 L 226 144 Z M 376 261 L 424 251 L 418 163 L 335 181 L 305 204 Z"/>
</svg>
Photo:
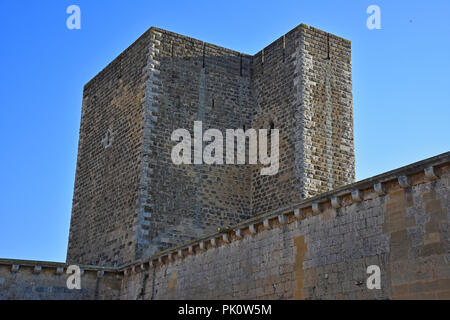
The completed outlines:
<svg viewBox="0 0 450 320">
<path fill-rule="evenodd" d="M 300 23 L 351 40 L 357 180 L 450 149 L 448 0 L 0 3 L 2 258 L 65 260 L 83 85 L 152 25 L 248 54 Z"/>
</svg>

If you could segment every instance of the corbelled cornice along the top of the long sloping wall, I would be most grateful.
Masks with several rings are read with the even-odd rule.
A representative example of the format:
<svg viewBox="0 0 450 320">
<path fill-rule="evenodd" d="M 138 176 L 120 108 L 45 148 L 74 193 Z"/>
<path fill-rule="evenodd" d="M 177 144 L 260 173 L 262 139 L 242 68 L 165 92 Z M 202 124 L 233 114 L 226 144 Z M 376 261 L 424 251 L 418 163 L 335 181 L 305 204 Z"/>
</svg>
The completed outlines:
<svg viewBox="0 0 450 320">
<path fill-rule="evenodd" d="M 344 211 L 345 208 L 352 210 L 350 207 L 361 204 L 364 201 L 374 201 L 378 197 L 385 197 L 389 193 L 395 193 L 398 190 L 415 188 L 419 185 L 443 179 L 449 174 L 449 166 L 450 152 L 446 152 L 342 186 L 316 197 L 294 203 L 289 207 L 278 208 L 273 212 L 253 217 L 230 228 L 158 252 L 148 259 L 136 261 L 119 270 L 124 275 L 129 274 L 130 271 L 146 271 L 148 267 L 170 264 L 175 259 L 183 259 L 189 255 L 203 253 L 207 249 L 229 245 L 232 241 L 255 236 L 258 232 L 283 228 L 285 225 L 295 222 L 301 223 L 300 221 L 311 219 L 317 215 L 322 215 L 322 219 L 333 219 L 337 217 L 338 211 Z"/>
</svg>

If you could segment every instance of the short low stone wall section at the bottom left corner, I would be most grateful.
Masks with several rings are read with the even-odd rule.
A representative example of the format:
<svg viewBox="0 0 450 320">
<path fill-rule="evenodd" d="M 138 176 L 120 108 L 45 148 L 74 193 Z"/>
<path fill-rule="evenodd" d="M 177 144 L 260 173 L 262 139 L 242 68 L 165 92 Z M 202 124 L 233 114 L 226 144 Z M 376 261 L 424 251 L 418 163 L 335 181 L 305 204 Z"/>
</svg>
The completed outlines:
<svg viewBox="0 0 450 320">
<path fill-rule="evenodd" d="M 68 289 L 67 265 L 0 259 L 0 300 L 114 300 L 120 277 L 114 270 L 82 269 L 81 289 Z M 100 273 L 99 273 L 100 272 Z"/>
</svg>

